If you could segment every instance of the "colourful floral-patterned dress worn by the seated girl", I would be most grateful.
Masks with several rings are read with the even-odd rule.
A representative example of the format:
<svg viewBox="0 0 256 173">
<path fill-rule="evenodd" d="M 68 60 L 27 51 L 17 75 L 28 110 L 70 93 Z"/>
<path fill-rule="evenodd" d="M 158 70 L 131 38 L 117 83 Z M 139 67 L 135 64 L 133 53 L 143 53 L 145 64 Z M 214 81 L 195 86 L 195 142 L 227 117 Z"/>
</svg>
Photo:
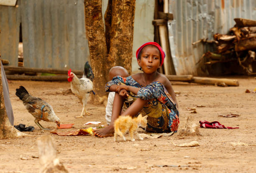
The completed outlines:
<svg viewBox="0 0 256 173">
<path fill-rule="evenodd" d="M 124 104 L 126 107 L 129 107 L 136 98 L 148 100 L 141 112 L 139 112 L 142 116 L 148 115 L 147 131 L 159 133 L 177 132 L 179 126 L 179 111 L 163 84 L 159 81 L 154 81 L 147 86 L 143 86 L 131 76 L 127 78 L 116 76 L 105 85 L 106 92 L 109 92 L 109 88 L 113 84 L 125 84 L 141 88 L 137 95 L 128 92 L 129 96 L 125 99 Z"/>
</svg>

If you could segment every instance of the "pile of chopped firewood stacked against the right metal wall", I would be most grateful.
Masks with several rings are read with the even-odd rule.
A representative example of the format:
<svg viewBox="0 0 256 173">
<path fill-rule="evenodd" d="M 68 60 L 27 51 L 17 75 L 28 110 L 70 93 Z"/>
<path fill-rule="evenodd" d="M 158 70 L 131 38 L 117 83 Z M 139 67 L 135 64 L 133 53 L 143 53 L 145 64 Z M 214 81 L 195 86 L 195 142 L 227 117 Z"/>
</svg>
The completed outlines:
<svg viewBox="0 0 256 173">
<path fill-rule="evenodd" d="M 201 42 L 215 43 L 216 51 L 206 52 L 202 58 L 206 58 L 205 64 L 233 63 L 242 69 L 243 74 L 256 74 L 253 62 L 256 62 L 256 20 L 235 18 L 236 25 L 230 28 L 228 34 L 214 34 L 214 41 Z M 254 67 L 254 68 L 253 68 Z M 238 69 L 236 69 L 238 70 Z"/>
</svg>

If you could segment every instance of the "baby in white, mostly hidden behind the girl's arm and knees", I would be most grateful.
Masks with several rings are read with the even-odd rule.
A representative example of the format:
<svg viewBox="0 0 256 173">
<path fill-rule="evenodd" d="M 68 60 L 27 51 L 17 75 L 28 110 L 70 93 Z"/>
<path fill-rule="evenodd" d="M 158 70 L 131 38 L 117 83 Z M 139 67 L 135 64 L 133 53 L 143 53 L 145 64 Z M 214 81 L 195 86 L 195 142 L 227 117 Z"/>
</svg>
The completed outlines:
<svg viewBox="0 0 256 173">
<path fill-rule="evenodd" d="M 109 79 L 108 80 L 111 81 L 113 79 L 113 77 L 115 77 L 115 76 L 128 77 L 129 74 L 125 68 L 123 68 L 121 66 L 114 66 L 109 71 L 109 74 L 108 74 Z M 111 122 L 114 97 L 115 97 L 115 92 L 110 92 L 108 94 L 108 103 L 106 106 L 106 115 L 105 115 L 108 125 L 110 125 L 110 122 Z"/>
</svg>

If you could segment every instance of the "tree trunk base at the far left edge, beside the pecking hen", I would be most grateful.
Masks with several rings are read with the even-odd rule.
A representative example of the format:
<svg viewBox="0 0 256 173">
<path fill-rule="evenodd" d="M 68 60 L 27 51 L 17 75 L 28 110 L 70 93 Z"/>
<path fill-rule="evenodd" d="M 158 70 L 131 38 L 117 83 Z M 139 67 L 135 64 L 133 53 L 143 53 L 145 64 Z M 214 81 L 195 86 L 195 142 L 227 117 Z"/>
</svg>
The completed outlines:
<svg viewBox="0 0 256 173">
<path fill-rule="evenodd" d="M 2 73 L 0 66 L 0 139 L 16 138 L 25 135 L 25 133 L 18 131 L 10 124 L 10 121 L 6 114 L 5 100 L 3 97 Z"/>
</svg>

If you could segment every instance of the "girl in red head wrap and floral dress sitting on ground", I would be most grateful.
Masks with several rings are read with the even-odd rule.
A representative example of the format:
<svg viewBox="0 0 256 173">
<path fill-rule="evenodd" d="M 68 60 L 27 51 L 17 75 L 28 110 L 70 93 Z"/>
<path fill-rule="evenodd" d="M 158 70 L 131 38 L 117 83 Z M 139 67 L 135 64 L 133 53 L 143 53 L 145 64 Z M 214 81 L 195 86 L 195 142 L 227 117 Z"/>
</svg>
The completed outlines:
<svg viewBox="0 0 256 173">
<path fill-rule="evenodd" d="M 157 70 L 164 63 L 165 53 L 155 42 L 144 43 L 136 51 L 143 73 L 126 78 L 116 76 L 105 85 L 106 92 L 115 92 L 110 125 L 95 130 L 99 137 L 113 136 L 114 122 L 120 116 L 123 104 L 128 108 L 121 116 L 142 114 L 147 117 L 149 132 L 177 132 L 179 126 L 178 104 L 172 84 Z"/>
</svg>

